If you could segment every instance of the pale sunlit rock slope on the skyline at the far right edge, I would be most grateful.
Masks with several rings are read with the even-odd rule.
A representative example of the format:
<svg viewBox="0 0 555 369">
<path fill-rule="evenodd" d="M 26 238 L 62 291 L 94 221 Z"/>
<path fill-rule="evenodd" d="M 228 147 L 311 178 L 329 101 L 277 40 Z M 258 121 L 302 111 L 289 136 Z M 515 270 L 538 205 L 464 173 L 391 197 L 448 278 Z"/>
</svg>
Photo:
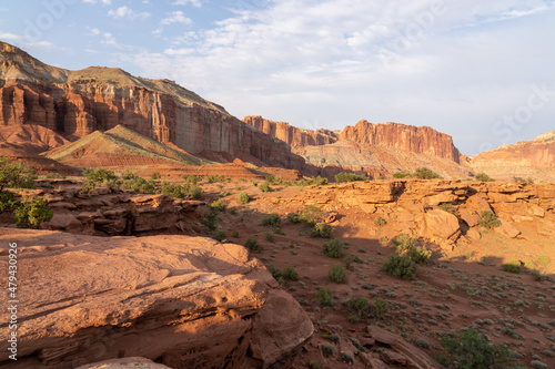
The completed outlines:
<svg viewBox="0 0 555 369">
<path fill-rule="evenodd" d="M 555 181 L 555 131 L 544 133 L 533 141 L 519 141 L 481 153 L 471 162 L 475 173 L 484 172 L 497 180 L 522 177 Z"/>
</svg>

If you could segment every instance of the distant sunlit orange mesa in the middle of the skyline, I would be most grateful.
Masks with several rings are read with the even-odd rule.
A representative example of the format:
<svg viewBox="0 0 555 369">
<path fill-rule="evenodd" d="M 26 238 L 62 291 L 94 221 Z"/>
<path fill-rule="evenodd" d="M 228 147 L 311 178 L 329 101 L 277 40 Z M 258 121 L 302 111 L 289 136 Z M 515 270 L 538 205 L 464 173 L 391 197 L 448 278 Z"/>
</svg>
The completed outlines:
<svg viewBox="0 0 555 369">
<path fill-rule="evenodd" d="M 421 166 L 447 177 L 468 174 L 461 165 L 466 157 L 453 145 L 453 139 L 427 126 L 361 121 L 339 132 L 301 130 L 261 116 L 246 116 L 244 122 L 291 145 L 293 153 L 317 168 L 309 168 L 311 174 L 333 177 L 352 171 L 377 177 Z"/>
</svg>

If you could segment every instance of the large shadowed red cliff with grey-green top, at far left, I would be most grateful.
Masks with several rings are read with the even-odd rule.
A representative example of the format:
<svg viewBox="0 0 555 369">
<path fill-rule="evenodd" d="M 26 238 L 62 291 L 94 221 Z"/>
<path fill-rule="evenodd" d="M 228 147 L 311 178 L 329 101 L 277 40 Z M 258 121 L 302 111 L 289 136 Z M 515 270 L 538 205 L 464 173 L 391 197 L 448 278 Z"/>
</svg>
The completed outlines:
<svg viewBox="0 0 555 369">
<path fill-rule="evenodd" d="M 122 125 L 191 154 L 226 153 L 295 170 L 304 165 L 285 143 L 171 81 L 138 79 L 119 69 L 58 70 L 0 47 L 0 126 L 40 125 L 74 141 Z"/>
</svg>

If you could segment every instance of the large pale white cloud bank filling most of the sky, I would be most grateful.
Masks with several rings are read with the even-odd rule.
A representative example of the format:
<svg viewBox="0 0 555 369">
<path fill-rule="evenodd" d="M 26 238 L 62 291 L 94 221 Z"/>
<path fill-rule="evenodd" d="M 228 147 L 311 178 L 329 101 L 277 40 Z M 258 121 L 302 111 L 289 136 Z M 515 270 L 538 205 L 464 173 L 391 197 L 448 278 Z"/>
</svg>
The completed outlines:
<svg viewBox="0 0 555 369">
<path fill-rule="evenodd" d="M 142 74 L 182 81 L 239 117 L 262 114 L 307 129 L 361 119 L 431 125 L 455 142 L 464 137 L 456 143 L 472 154 L 478 137 L 498 140 L 494 122 L 525 101 L 532 83 L 555 90 L 555 50 L 546 47 L 555 43 L 546 17 L 554 3 L 434 3 L 243 1 L 231 18 L 174 38 L 163 53 L 121 58 Z M 552 131 L 554 110 L 538 112 L 538 123 L 521 133 Z"/>
</svg>

